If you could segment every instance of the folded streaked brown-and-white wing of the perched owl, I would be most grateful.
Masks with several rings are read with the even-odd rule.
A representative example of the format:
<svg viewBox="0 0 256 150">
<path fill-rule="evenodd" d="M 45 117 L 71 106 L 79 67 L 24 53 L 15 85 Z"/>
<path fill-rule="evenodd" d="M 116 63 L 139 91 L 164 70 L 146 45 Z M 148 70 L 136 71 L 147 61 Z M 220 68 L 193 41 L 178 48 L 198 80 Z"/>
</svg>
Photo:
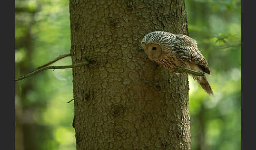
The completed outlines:
<svg viewBox="0 0 256 150">
<path fill-rule="evenodd" d="M 188 60 L 190 63 L 195 63 L 202 71 L 210 74 L 208 63 L 198 50 L 198 43 L 186 35 L 176 35 L 174 42 L 174 50 L 182 60 Z"/>
</svg>

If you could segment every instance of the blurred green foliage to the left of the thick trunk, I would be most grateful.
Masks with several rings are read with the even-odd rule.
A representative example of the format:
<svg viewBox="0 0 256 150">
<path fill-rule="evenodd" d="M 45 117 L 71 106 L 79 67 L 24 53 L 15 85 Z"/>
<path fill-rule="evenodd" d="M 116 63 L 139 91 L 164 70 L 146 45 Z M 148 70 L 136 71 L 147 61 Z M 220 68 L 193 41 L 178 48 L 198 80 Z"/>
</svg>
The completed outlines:
<svg viewBox="0 0 256 150">
<path fill-rule="evenodd" d="M 70 52 L 68 1 L 16 0 L 15 29 L 19 77 Z M 71 58 L 53 65 L 71 65 Z M 72 88 L 72 69 L 47 70 L 16 83 L 16 136 L 22 133 L 16 149 L 22 145 L 22 149 L 76 149 L 74 106 L 66 103 L 73 99 Z M 21 121 L 27 110 L 31 123 Z M 34 127 L 37 130 L 32 130 Z"/>
</svg>

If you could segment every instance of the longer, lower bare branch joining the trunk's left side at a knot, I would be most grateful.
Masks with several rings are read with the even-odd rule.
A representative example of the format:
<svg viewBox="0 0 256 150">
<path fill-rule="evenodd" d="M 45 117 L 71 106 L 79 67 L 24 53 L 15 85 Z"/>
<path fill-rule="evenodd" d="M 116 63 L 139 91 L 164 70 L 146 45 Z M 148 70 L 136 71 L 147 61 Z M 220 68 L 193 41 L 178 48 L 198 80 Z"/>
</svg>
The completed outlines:
<svg viewBox="0 0 256 150">
<path fill-rule="evenodd" d="M 32 76 L 38 72 L 41 72 L 41 71 L 44 71 L 44 70 L 47 70 L 47 69 L 66 69 L 66 68 L 75 68 L 75 67 L 81 67 L 81 66 L 85 66 L 85 65 L 88 65 L 89 62 L 88 61 L 85 61 L 85 62 L 81 62 L 81 63 L 76 63 L 74 65 L 69 65 L 69 66 L 48 66 L 48 67 L 43 67 L 43 68 L 40 68 L 40 69 L 37 69 L 31 73 L 28 73 L 26 74 L 25 76 L 22 76 L 22 77 L 19 77 L 17 79 L 15 79 L 15 82 L 16 81 L 19 81 L 19 80 L 22 80 L 22 79 L 25 79 L 29 76 Z"/>
</svg>

